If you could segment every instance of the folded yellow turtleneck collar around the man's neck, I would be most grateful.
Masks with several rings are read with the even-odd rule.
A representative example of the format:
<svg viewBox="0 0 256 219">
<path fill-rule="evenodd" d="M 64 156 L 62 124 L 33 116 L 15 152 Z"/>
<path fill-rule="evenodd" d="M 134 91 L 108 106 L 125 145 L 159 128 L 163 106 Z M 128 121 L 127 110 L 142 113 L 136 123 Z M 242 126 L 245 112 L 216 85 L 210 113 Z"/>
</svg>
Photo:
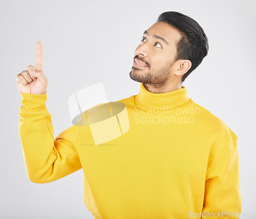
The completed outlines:
<svg viewBox="0 0 256 219">
<path fill-rule="evenodd" d="M 175 91 L 155 94 L 147 91 L 144 84 L 141 83 L 139 94 L 135 96 L 135 102 L 142 111 L 153 112 L 152 109 L 158 109 L 164 112 L 164 114 L 175 114 L 177 110 L 174 109 L 183 110 L 191 101 L 187 96 L 187 89 L 184 86 Z"/>
</svg>

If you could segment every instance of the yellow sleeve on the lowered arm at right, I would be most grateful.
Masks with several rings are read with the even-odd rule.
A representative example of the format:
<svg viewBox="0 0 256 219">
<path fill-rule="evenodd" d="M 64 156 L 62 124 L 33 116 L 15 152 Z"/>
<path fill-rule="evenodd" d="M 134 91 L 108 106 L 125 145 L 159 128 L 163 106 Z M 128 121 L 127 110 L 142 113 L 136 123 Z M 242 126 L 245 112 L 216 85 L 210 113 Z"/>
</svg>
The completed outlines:
<svg viewBox="0 0 256 219">
<path fill-rule="evenodd" d="M 202 218 L 238 218 L 241 213 L 237 142 L 232 139 L 208 165 Z"/>
</svg>

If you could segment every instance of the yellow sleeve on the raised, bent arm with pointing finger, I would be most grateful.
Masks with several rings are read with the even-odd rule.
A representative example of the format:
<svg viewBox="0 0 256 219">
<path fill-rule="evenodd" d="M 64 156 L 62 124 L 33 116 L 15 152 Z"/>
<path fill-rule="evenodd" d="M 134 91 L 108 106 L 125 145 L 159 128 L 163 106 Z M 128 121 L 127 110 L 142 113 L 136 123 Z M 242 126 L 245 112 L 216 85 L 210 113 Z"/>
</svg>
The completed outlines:
<svg viewBox="0 0 256 219">
<path fill-rule="evenodd" d="M 80 126 L 71 126 L 54 139 L 46 93 L 22 95 L 19 135 L 29 180 L 49 183 L 81 168 L 76 140 Z"/>
</svg>

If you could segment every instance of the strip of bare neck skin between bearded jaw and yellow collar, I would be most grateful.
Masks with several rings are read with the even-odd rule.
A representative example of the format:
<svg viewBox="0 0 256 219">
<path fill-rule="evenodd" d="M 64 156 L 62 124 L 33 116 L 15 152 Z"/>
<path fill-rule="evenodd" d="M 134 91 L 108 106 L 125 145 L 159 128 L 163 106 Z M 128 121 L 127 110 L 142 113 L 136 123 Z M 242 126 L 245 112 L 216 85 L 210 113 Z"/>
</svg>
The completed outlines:
<svg viewBox="0 0 256 219">
<path fill-rule="evenodd" d="M 175 91 L 178 89 L 181 89 L 181 82 L 180 83 L 170 83 L 170 84 L 150 84 L 146 83 L 144 84 L 145 88 L 147 91 L 155 94 L 162 94 L 162 93 L 167 93 L 171 91 Z"/>
</svg>

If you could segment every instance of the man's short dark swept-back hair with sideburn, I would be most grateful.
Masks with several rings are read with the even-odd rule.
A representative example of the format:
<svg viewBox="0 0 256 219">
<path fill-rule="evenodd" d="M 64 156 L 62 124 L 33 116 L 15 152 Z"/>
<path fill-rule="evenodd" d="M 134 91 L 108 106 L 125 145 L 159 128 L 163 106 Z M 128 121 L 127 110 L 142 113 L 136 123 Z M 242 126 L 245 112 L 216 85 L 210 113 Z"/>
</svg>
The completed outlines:
<svg viewBox="0 0 256 219">
<path fill-rule="evenodd" d="M 164 22 L 178 30 L 182 37 L 177 45 L 176 60 L 188 59 L 191 68 L 183 75 L 181 82 L 193 72 L 208 53 L 208 39 L 196 20 L 176 11 L 162 13 L 157 22 Z"/>
</svg>

